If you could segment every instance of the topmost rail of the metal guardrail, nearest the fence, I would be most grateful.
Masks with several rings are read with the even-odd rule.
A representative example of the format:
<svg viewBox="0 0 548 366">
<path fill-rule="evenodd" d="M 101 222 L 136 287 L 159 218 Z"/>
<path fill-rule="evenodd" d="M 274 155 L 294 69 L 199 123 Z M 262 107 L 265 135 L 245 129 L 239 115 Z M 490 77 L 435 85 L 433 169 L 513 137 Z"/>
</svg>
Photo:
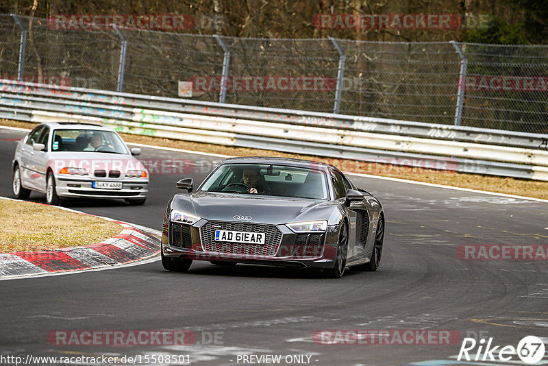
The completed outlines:
<svg viewBox="0 0 548 366">
<path fill-rule="evenodd" d="M 0 80 L 0 92 L 19 93 L 18 89 L 32 86 L 29 95 L 71 99 L 85 102 L 107 103 L 114 106 L 133 106 L 168 112 L 192 112 L 216 117 L 253 119 L 256 121 L 292 123 L 296 125 L 321 125 L 362 132 L 400 134 L 419 138 L 436 138 L 446 141 L 486 143 L 530 149 L 548 149 L 548 134 L 529 134 L 506 130 L 454 126 L 435 123 L 400 121 L 375 117 L 347 116 L 302 110 L 283 110 L 242 106 L 239 104 L 212 103 L 188 99 L 153 97 L 108 90 L 66 88 L 49 84 L 32 84 L 13 80 Z"/>
</svg>

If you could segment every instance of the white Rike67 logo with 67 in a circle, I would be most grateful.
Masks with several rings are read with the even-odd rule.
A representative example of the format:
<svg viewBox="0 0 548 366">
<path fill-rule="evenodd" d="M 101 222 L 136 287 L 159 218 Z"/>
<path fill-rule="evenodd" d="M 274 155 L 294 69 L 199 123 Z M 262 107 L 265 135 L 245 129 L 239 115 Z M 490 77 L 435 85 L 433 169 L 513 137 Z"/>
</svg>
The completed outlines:
<svg viewBox="0 0 548 366">
<path fill-rule="evenodd" d="M 474 350 L 476 345 L 477 351 Z M 527 364 L 538 363 L 543 359 L 545 354 L 545 345 L 543 340 L 535 336 L 523 337 L 519 341 L 518 346 L 505 345 L 493 345 L 493 337 L 489 338 L 486 344 L 485 339 L 480 339 L 476 342 L 473 338 L 464 338 L 462 345 L 460 346 L 460 352 L 458 352 L 458 361 L 512 361 L 516 362 L 514 356 L 517 356 Z"/>
</svg>

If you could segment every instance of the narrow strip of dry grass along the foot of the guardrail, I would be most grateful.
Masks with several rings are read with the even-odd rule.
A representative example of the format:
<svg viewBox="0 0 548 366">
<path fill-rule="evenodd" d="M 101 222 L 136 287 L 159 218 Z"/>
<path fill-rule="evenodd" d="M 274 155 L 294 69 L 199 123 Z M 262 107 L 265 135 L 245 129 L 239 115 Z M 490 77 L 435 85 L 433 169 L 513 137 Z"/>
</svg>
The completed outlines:
<svg viewBox="0 0 548 366">
<path fill-rule="evenodd" d="M 36 123 L 26 123 L 5 119 L 0 119 L 0 124 L 23 128 L 32 128 L 36 125 Z M 248 149 L 244 147 L 226 147 L 206 143 L 191 143 L 187 141 L 171 140 L 169 138 L 138 136 L 132 134 L 121 135 L 127 143 L 142 143 L 147 145 L 174 147 L 176 149 L 203 151 L 231 156 L 284 156 L 288 158 L 304 158 L 319 162 L 327 162 L 335 165 L 343 171 L 349 171 L 352 173 L 381 175 L 390 178 L 400 178 L 461 188 L 479 189 L 481 191 L 506 193 L 509 195 L 521 195 L 525 197 L 548 199 L 548 182 L 540 182 L 536 180 L 520 180 L 516 178 L 503 178 L 491 175 L 456 173 L 453 171 L 438 171 L 435 169 L 401 167 L 390 164 L 323 158 L 321 156 L 287 154 L 280 151 Z"/>
</svg>

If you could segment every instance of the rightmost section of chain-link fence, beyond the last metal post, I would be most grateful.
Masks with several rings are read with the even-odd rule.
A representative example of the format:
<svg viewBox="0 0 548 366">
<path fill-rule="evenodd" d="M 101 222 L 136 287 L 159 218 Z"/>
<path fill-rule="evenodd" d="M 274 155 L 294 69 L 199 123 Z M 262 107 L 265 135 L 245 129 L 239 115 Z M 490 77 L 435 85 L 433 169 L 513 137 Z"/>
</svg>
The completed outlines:
<svg viewBox="0 0 548 366">
<path fill-rule="evenodd" d="M 548 133 L 548 47 L 461 45 L 463 125 Z"/>
</svg>

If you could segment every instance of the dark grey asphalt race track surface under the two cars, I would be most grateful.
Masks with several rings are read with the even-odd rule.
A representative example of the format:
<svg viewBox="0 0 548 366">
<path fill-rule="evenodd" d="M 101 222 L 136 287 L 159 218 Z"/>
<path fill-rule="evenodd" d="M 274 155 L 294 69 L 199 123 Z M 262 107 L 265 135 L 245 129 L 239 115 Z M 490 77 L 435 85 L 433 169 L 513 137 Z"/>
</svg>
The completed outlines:
<svg viewBox="0 0 548 366">
<path fill-rule="evenodd" d="M 11 197 L 14 139 L 24 134 L 0 129 L 0 195 Z M 66 206 L 160 230 L 164 206 L 177 192 L 175 182 L 190 176 L 197 185 L 222 160 L 149 148 L 140 158 L 190 159 L 196 167 L 190 175 L 151 175 L 145 206 L 114 200 Z M 348 271 L 332 280 L 297 269 L 203 262 L 193 263 L 188 273 L 172 273 L 155 261 L 0 281 L 0 356 L 188 355 L 197 365 L 249 365 L 259 360 L 250 356 L 272 354 L 282 356 L 282 365 L 449 365 L 464 337 L 492 337 L 493 345 L 516 347 L 523 337 L 535 335 L 548 343 L 546 259 L 462 260 L 457 255 L 460 245 L 548 245 L 548 203 L 351 178 L 379 197 L 386 211 L 377 272 Z M 31 200 L 45 202 L 45 197 L 32 193 Z M 29 225 L 36 219 L 29 217 Z M 60 345 L 51 339 L 55 332 L 71 330 L 183 329 L 193 332 L 196 342 Z M 347 339 L 351 344 L 342 345 L 313 338 L 319 330 L 430 330 L 460 337 L 449 345 L 420 337 L 418 343 L 428 344 L 390 338 L 390 344 Z M 286 358 L 303 354 L 310 361 Z M 473 364 L 525 364 L 515 354 L 513 363 L 481 359 Z"/>
</svg>

